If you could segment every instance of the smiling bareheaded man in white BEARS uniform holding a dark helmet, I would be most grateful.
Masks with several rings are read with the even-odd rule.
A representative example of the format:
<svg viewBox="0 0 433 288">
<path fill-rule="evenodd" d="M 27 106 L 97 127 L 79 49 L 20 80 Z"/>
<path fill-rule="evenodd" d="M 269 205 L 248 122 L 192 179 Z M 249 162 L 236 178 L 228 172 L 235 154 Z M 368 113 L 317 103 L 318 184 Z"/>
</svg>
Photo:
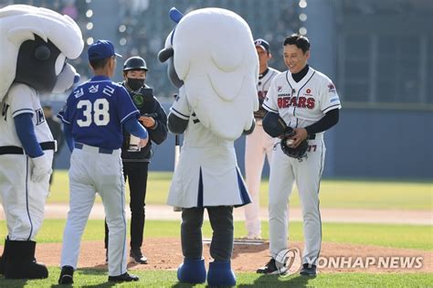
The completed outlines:
<svg viewBox="0 0 433 288">
<path fill-rule="evenodd" d="M 277 144 L 272 156 L 269 176 L 269 249 L 272 259 L 258 270 L 259 273 L 279 272 L 275 257 L 287 249 L 287 202 L 296 182 L 305 240 L 301 275 L 316 274 L 322 243 L 319 187 L 326 151 L 323 133 L 338 123 L 342 106 L 333 81 L 312 69 L 307 64 L 309 58 L 307 37 L 297 34 L 287 37 L 284 62 L 289 69 L 272 80 L 263 103 L 269 111 L 263 120 L 265 131 L 281 136 L 272 129 L 275 123 L 284 123 L 295 132 L 289 140 L 290 148 L 296 149 L 306 140 L 308 148 L 301 157 L 290 157 Z"/>
</svg>

